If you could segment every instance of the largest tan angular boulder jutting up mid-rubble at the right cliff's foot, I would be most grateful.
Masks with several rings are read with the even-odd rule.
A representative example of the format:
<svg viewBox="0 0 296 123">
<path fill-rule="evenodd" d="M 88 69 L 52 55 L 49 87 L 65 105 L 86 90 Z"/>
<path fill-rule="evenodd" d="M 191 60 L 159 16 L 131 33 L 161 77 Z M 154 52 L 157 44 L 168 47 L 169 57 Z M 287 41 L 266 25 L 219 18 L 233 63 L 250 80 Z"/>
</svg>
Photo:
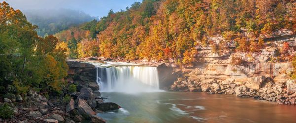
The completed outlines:
<svg viewBox="0 0 296 123">
<path fill-rule="evenodd" d="M 265 76 L 256 76 L 251 78 L 249 82 L 246 82 L 246 86 L 251 89 L 259 90 L 261 88 L 262 83 L 265 81 Z"/>
</svg>

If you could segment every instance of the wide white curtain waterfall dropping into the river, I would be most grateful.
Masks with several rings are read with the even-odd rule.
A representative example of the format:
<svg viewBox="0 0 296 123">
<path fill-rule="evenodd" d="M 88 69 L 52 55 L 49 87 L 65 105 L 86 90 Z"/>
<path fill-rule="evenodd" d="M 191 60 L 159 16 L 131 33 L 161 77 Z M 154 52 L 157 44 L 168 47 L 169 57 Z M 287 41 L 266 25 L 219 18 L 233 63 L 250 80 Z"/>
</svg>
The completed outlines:
<svg viewBox="0 0 296 123">
<path fill-rule="evenodd" d="M 157 67 L 96 67 L 97 83 L 103 92 L 143 92 L 159 89 Z"/>
</svg>

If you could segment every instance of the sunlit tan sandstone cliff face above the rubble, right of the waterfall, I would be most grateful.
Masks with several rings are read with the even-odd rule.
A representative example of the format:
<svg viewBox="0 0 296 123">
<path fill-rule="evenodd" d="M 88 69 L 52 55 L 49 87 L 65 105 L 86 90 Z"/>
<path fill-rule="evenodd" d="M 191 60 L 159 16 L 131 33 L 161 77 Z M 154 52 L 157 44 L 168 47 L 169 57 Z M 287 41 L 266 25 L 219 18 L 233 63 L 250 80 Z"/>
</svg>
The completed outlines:
<svg viewBox="0 0 296 123">
<path fill-rule="evenodd" d="M 216 37 L 212 40 L 219 43 L 224 39 Z M 182 74 L 171 85 L 170 90 L 194 91 L 199 90 L 196 88 L 202 85 L 220 83 L 227 79 L 233 79 L 236 85 L 245 85 L 254 90 L 275 85 L 286 88 L 292 72 L 291 63 L 278 62 L 276 59 L 284 42 L 289 42 L 290 50 L 287 54 L 295 54 L 296 35 L 265 39 L 266 47 L 261 52 L 252 54 L 234 52 L 235 46 L 232 43 L 219 53 L 213 52 L 210 47 L 199 47 L 201 62 L 194 67 L 182 69 Z M 239 58 L 243 63 L 234 65 L 234 58 Z"/>
</svg>

